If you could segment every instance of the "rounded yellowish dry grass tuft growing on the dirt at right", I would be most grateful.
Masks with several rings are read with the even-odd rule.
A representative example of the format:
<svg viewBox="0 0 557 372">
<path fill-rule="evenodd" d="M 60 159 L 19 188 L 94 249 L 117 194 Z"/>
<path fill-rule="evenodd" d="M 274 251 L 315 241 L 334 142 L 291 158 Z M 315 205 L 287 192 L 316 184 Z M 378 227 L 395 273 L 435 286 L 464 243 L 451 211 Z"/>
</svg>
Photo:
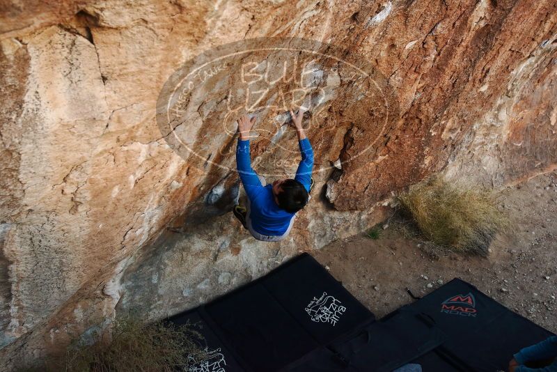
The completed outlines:
<svg viewBox="0 0 557 372">
<path fill-rule="evenodd" d="M 442 249 L 487 256 L 496 233 L 508 226 L 489 192 L 460 189 L 439 177 L 411 186 L 398 201 L 424 238 Z"/>
</svg>

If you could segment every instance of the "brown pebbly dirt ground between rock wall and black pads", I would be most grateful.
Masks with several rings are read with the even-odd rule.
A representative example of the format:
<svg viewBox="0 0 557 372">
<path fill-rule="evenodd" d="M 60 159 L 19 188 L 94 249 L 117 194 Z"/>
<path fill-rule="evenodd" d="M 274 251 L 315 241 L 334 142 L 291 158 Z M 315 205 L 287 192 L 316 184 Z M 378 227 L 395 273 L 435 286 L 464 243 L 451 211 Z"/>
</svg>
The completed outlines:
<svg viewBox="0 0 557 372">
<path fill-rule="evenodd" d="M 413 302 L 407 288 L 421 297 L 459 277 L 557 333 L 557 173 L 508 187 L 497 200 L 513 223 L 488 258 L 432 258 L 393 221 L 377 240 L 362 233 L 311 254 L 377 318 Z"/>
</svg>

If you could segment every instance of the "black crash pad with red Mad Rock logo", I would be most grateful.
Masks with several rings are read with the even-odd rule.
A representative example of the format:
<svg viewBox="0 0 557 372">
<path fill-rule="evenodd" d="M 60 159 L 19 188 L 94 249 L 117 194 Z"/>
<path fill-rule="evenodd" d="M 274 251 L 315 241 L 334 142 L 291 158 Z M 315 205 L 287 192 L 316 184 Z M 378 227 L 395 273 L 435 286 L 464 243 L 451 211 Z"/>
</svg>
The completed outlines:
<svg viewBox="0 0 557 372">
<path fill-rule="evenodd" d="M 469 371 L 505 370 L 515 352 L 552 335 L 461 279 L 402 309 L 432 318 L 447 335 L 439 352 Z"/>
</svg>

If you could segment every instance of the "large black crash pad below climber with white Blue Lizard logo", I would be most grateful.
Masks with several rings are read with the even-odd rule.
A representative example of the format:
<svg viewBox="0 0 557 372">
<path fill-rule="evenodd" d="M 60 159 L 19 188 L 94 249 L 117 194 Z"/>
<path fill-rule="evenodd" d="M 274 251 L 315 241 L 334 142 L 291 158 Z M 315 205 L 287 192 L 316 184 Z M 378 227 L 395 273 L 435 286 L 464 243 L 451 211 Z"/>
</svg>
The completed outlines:
<svg viewBox="0 0 557 372">
<path fill-rule="evenodd" d="M 221 350 L 229 351 L 246 371 L 288 369 L 331 341 L 350 337 L 375 321 L 308 254 L 292 258 L 194 313 L 221 342 Z"/>
</svg>

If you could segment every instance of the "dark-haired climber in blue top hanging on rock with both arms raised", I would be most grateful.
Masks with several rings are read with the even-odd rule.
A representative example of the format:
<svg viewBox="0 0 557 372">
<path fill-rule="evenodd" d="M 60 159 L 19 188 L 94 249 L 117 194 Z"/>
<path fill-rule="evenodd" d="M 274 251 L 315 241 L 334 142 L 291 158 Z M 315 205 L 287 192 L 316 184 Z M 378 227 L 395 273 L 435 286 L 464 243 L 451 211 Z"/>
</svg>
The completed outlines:
<svg viewBox="0 0 557 372">
<path fill-rule="evenodd" d="M 313 148 L 301 125 L 304 111 L 300 108 L 294 114 L 290 110 L 290 116 L 298 135 L 301 162 L 294 179 L 276 180 L 269 185 L 266 185 L 265 178 L 258 176 L 251 168 L 249 133 L 256 123 L 256 117 L 250 120 L 243 115 L 237 120 L 240 135 L 236 148 L 236 166 L 246 190 L 247 207 L 236 205 L 233 212 L 253 238 L 264 242 L 286 238 L 294 224 L 296 213 L 306 206 L 310 199 L 309 192 L 313 188 Z"/>
</svg>

